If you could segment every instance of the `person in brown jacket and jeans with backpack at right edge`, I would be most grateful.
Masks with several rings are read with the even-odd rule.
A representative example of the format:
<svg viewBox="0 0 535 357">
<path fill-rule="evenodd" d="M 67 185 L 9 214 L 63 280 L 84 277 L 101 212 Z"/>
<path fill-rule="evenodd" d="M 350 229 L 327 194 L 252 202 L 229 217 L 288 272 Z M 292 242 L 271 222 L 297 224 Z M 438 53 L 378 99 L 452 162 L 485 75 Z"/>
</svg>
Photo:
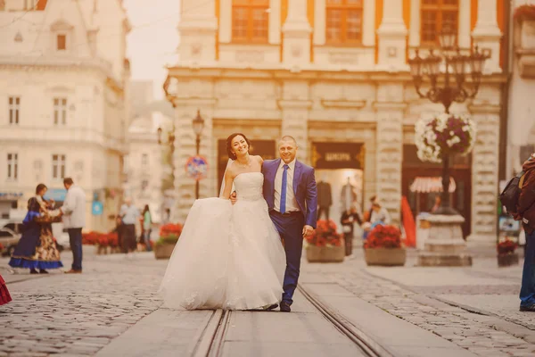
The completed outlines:
<svg viewBox="0 0 535 357">
<path fill-rule="evenodd" d="M 522 220 L 526 234 L 526 249 L 520 289 L 520 311 L 535 312 L 535 154 L 523 163 L 523 172 L 512 179 L 518 191 L 514 220 Z M 516 180 L 517 179 L 517 180 Z M 506 187 L 507 189 L 507 187 Z M 505 193 L 506 190 L 504 190 Z M 509 189 L 508 192 L 512 192 Z M 502 194 L 503 195 L 503 194 Z M 506 200 L 502 200 L 504 203 Z M 514 201 L 514 200 L 513 200 Z M 509 210 L 511 211 L 511 210 Z"/>
</svg>

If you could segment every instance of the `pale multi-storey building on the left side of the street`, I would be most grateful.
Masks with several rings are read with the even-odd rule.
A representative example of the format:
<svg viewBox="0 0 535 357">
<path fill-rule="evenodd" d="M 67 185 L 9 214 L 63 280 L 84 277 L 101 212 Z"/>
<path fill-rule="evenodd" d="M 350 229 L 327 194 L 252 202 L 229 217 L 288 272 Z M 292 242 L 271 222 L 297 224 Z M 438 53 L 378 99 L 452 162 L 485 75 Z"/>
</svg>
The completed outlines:
<svg viewBox="0 0 535 357">
<path fill-rule="evenodd" d="M 128 149 L 126 12 L 119 0 L 0 3 L 1 214 L 25 210 L 40 182 L 62 201 L 72 177 L 86 228 L 107 231 Z"/>
</svg>

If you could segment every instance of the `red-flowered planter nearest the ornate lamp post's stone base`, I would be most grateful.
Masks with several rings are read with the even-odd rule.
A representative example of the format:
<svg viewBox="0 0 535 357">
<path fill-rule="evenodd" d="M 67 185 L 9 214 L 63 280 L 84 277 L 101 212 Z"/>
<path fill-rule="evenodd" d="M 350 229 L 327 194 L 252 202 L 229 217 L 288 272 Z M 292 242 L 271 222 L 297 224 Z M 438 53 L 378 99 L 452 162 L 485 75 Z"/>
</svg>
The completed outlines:
<svg viewBox="0 0 535 357">
<path fill-rule="evenodd" d="M 366 239 L 364 252 L 367 265 L 403 266 L 407 260 L 401 232 L 394 226 L 375 226 Z"/>
</svg>

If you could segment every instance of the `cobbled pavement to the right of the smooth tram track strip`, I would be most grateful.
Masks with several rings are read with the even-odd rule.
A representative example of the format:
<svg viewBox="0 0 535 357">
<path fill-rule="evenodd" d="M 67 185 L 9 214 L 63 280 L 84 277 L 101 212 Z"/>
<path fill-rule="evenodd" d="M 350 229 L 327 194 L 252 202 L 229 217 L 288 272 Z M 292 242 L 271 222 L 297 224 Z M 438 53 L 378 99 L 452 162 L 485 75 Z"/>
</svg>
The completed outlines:
<svg viewBox="0 0 535 357">
<path fill-rule="evenodd" d="M 301 281 L 313 275 L 328 278 L 383 311 L 481 356 L 535 355 L 533 315 L 518 312 L 520 266 L 498 269 L 496 258 L 478 258 L 472 268 L 420 268 L 415 262 L 416 254 L 410 252 L 406 267 L 368 268 L 358 249 L 354 259 L 338 264 L 304 262 Z M 466 311 L 465 304 L 474 307 Z M 483 314 L 473 313 L 475 306 Z"/>
</svg>

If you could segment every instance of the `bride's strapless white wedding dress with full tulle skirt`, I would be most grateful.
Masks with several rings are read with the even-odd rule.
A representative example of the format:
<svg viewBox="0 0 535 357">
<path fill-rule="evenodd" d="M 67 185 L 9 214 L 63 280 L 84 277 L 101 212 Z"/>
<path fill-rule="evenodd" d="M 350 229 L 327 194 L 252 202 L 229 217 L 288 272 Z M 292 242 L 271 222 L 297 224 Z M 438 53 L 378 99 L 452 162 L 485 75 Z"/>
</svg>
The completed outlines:
<svg viewBox="0 0 535 357">
<path fill-rule="evenodd" d="M 261 309 L 279 303 L 286 257 L 262 195 L 264 176 L 236 176 L 238 201 L 195 201 L 161 282 L 171 309 Z"/>
</svg>

